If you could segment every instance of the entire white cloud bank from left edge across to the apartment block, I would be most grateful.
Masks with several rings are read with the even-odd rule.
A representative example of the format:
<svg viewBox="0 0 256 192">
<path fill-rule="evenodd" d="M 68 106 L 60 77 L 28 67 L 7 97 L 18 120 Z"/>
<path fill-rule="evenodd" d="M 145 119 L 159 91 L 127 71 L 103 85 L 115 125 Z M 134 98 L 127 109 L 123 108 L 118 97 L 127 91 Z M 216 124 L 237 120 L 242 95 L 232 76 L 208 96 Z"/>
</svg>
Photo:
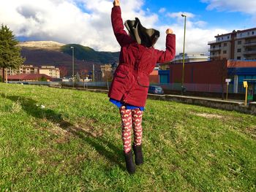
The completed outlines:
<svg viewBox="0 0 256 192">
<path fill-rule="evenodd" d="M 161 36 L 156 48 L 165 49 L 165 30 L 159 26 L 159 16 L 150 9 L 143 10 L 144 0 L 121 1 L 123 20 L 140 18 L 146 28 L 156 28 Z M 113 0 L 8 0 L 0 1 L 0 23 L 6 24 L 19 37 L 31 40 L 51 40 L 61 43 L 78 43 L 95 50 L 118 51 L 120 47 L 113 35 L 110 12 Z M 161 10 L 161 11 L 160 11 Z M 165 8 L 159 12 L 166 12 Z M 206 22 L 196 20 L 189 12 L 166 13 L 173 18 L 176 34 L 176 53 L 183 47 L 184 18 L 187 15 L 186 52 L 207 53 L 207 42 L 222 29 L 207 29 Z"/>
</svg>

